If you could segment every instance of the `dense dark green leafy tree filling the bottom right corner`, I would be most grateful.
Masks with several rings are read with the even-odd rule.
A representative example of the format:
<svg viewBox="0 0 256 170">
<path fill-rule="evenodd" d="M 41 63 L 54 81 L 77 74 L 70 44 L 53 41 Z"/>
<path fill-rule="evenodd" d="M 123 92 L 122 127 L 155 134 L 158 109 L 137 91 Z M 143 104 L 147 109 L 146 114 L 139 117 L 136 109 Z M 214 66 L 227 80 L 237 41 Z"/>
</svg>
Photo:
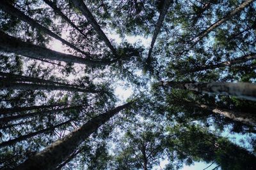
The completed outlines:
<svg viewBox="0 0 256 170">
<path fill-rule="evenodd" d="M 214 162 L 221 166 L 221 169 L 253 169 L 255 167 L 255 155 L 205 129 L 191 126 L 185 129 L 175 128 L 171 131 L 175 134 L 168 138 L 170 152 L 176 152 L 179 159 L 186 160 L 188 164 L 192 164 L 193 160 L 201 159 Z"/>
</svg>

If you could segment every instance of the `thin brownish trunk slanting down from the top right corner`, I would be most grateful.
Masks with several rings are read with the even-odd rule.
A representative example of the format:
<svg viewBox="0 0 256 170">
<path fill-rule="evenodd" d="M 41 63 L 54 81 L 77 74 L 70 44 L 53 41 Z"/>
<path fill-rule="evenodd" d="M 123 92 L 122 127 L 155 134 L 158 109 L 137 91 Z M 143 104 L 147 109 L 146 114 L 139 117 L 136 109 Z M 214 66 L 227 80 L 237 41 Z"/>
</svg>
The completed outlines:
<svg viewBox="0 0 256 170">
<path fill-rule="evenodd" d="M 216 29 L 216 27 L 219 27 L 221 24 L 229 20 L 231 17 L 234 17 L 234 15 L 242 11 L 244 8 L 246 8 L 246 6 L 248 6 L 252 2 L 253 0 L 244 1 L 244 3 L 240 4 L 235 10 L 231 11 L 230 13 L 225 15 L 225 17 L 221 18 L 220 20 L 212 24 L 210 27 L 205 29 L 205 31 L 201 32 L 199 36 L 194 39 L 195 42 L 193 43 L 193 46 L 195 46 L 196 43 L 198 43 L 198 41 L 200 41 L 202 38 L 207 36 L 207 34 L 209 34 L 209 32 L 211 32 L 213 29 Z"/>
</svg>

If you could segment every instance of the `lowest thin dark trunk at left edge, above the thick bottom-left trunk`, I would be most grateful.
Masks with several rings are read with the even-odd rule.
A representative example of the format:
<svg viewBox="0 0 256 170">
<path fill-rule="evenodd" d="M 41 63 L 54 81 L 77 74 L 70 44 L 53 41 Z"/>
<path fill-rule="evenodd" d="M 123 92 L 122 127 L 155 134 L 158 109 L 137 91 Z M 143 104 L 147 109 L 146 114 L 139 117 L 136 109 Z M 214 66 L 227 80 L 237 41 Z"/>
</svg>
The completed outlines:
<svg viewBox="0 0 256 170">
<path fill-rule="evenodd" d="M 63 122 L 61 124 L 58 124 L 58 125 L 54 125 L 52 127 L 48 127 L 46 129 L 42 129 L 40 131 L 37 131 L 37 132 L 31 132 L 29 134 L 26 134 L 24 136 L 20 136 L 18 138 L 15 138 L 15 139 L 10 139 L 9 141 L 5 141 L 3 143 L 0 143 L 0 148 L 4 147 L 4 146 L 10 146 L 10 145 L 13 145 L 19 141 L 24 141 L 28 138 L 32 138 L 38 134 L 42 134 L 42 133 L 45 133 L 45 132 L 49 132 L 49 131 L 54 131 L 54 129 L 56 129 L 57 127 L 61 127 L 62 125 L 65 125 L 65 124 L 69 124 L 72 120 L 68 120 L 66 122 Z"/>
</svg>

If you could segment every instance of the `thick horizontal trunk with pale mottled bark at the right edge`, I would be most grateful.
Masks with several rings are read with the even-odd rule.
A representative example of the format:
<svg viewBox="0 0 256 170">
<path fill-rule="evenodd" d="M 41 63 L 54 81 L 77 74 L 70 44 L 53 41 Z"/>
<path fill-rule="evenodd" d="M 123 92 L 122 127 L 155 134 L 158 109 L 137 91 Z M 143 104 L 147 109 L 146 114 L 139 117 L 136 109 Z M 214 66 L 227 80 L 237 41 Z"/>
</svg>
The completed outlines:
<svg viewBox="0 0 256 170">
<path fill-rule="evenodd" d="M 254 83 L 166 81 L 161 82 L 160 85 L 256 101 L 256 85 Z"/>
</svg>

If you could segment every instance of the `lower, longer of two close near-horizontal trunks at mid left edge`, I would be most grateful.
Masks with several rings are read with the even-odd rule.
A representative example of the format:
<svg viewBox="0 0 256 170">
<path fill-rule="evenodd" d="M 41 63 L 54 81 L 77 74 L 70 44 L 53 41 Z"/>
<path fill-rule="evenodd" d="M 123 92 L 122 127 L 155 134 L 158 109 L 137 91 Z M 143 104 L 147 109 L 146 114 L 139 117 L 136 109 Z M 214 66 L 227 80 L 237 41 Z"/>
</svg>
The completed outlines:
<svg viewBox="0 0 256 170">
<path fill-rule="evenodd" d="M 69 87 L 64 85 L 38 85 L 32 83 L 15 83 L 8 81 L 0 82 L 0 89 L 12 90 L 64 90 L 70 92 L 84 92 L 84 93 L 99 93 L 99 90 L 79 89 L 76 87 Z"/>
</svg>

